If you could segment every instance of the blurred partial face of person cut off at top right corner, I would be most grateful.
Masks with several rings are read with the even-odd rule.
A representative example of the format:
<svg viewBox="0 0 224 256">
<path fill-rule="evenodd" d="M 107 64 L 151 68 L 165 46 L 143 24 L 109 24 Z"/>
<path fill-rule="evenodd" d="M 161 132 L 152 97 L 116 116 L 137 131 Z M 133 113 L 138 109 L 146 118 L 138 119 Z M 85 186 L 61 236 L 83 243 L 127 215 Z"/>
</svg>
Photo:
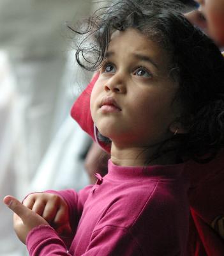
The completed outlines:
<svg viewBox="0 0 224 256">
<path fill-rule="evenodd" d="M 224 45 L 224 0 L 195 0 L 199 11 L 207 20 L 209 35 L 220 45 Z"/>
</svg>

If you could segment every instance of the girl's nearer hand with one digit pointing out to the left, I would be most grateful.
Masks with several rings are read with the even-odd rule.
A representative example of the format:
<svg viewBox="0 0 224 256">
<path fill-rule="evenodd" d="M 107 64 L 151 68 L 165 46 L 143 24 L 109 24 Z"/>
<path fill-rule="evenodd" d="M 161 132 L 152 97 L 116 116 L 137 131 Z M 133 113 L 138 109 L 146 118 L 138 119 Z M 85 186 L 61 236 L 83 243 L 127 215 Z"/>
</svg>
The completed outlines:
<svg viewBox="0 0 224 256">
<path fill-rule="evenodd" d="M 20 241 L 24 244 L 26 244 L 27 234 L 34 227 L 49 225 L 44 218 L 28 209 L 13 196 L 6 196 L 4 198 L 4 204 L 8 205 L 8 207 L 15 212 L 13 216 L 15 232 Z"/>
</svg>

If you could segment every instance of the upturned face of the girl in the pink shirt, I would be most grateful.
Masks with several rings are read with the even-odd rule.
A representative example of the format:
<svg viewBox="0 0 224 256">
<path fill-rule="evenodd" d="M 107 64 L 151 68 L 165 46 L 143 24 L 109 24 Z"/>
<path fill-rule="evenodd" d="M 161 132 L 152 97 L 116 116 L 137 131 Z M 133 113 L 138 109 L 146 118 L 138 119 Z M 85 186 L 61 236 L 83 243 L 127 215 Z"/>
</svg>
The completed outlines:
<svg viewBox="0 0 224 256">
<path fill-rule="evenodd" d="M 91 94 L 91 115 L 114 145 L 149 147 L 173 136 L 179 108 L 168 63 L 167 52 L 137 30 L 113 33 Z"/>
</svg>

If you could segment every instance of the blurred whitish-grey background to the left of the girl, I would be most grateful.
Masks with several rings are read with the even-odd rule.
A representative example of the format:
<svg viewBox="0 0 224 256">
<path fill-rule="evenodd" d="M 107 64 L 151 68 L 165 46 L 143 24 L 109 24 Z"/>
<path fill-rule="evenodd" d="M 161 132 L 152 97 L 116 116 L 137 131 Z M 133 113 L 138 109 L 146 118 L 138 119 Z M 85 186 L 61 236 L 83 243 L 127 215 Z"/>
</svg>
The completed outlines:
<svg viewBox="0 0 224 256">
<path fill-rule="evenodd" d="M 80 189 L 91 143 L 70 117 L 92 74 L 75 65 L 65 22 L 83 19 L 92 0 L 0 0 L 0 255 L 26 255 L 5 195 Z M 73 38 L 75 40 L 75 38 Z"/>
</svg>

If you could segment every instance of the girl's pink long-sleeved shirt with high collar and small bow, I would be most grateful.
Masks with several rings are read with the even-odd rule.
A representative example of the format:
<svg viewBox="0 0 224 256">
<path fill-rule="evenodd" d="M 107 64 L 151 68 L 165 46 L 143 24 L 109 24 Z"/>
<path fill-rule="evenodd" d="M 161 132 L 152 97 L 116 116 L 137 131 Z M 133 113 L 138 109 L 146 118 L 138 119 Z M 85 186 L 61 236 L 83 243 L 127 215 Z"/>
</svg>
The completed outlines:
<svg viewBox="0 0 224 256">
<path fill-rule="evenodd" d="M 73 240 L 42 225 L 27 236 L 31 256 L 186 255 L 188 180 L 183 164 L 124 167 L 109 161 L 108 174 L 79 193 L 49 191 L 66 200 Z"/>
</svg>

